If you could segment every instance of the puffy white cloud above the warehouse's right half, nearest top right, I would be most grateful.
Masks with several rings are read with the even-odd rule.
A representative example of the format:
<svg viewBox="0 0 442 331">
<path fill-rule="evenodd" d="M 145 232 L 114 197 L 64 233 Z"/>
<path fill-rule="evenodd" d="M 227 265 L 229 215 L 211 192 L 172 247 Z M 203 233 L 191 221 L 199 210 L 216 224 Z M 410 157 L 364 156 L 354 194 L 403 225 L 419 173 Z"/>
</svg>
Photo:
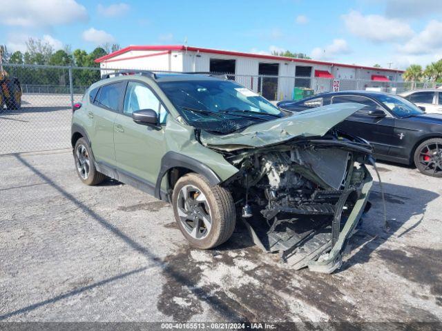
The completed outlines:
<svg viewBox="0 0 442 331">
<path fill-rule="evenodd" d="M 398 19 L 387 19 L 381 15 L 363 16 L 360 12 L 351 10 L 343 15 L 343 20 L 350 33 L 369 41 L 404 41 L 414 35 L 407 23 Z"/>
</svg>

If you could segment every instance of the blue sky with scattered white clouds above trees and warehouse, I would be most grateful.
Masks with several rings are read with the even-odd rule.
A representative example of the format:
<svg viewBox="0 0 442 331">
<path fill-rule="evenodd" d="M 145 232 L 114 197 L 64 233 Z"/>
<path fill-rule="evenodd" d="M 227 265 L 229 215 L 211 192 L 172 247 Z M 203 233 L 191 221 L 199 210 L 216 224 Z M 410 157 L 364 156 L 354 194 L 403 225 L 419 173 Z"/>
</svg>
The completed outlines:
<svg viewBox="0 0 442 331">
<path fill-rule="evenodd" d="M 442 58 L 442 0 L 0 0 L 0 44 L 183 44 L 405 68 Z"/>
</svg>

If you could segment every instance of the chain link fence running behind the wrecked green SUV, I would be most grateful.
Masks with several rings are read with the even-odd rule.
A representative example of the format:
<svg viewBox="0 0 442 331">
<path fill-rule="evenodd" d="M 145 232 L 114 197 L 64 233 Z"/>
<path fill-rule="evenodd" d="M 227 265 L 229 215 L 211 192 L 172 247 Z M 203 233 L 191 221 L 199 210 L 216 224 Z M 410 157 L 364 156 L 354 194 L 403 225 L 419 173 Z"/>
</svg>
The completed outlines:
<svg viewBox="0 0 442 331">
<path fill-rule="evenodd" d="M 0 104 L 0 155 L 70 148 L 73 103 L 81 101 L 88 86 L 98 81 L 101 74 L 122 70 L 11 64 L 3 67 L 8 77 L 0 80 L 1 93 L 6 101 Z M 336 88 L 334 79 L 224 74 L 227 79 L 237 81 L 270 101 L 302 99 Z M 12 94 L 8 92 L 11 92 L 14 77 L 23 93 L 19 109 L 8 102 L 12 100 Z M 338 85 L 338 90 L 375 89 L 392 93 L 432 87 L 428 83 L 362 79 L 340 79 Z"/>
</svg>

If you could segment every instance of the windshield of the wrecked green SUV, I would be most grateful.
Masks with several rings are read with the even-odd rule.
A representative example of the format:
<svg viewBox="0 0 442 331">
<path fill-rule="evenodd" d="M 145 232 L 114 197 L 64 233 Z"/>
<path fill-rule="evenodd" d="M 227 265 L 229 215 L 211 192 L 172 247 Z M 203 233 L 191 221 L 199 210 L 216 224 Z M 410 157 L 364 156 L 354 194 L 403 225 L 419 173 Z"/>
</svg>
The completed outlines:
<svg viewBox="0 0 442 331">
<path fill-rule="evenodd" d="M 285 116 L 259 94 L 233 81 L 158 83 L 173 106 L 195 128 L 229 133 Z"/>
</svg>

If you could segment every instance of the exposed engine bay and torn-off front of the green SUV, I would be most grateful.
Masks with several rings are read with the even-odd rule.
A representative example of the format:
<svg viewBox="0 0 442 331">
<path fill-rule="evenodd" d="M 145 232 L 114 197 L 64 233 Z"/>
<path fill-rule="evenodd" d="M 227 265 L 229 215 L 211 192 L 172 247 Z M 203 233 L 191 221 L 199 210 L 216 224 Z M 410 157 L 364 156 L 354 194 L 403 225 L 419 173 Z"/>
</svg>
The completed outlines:
<svg viewBox="0 0 442 331">
<path fill-rule="evenodd" d="M 330 131 L 323 137 L 225 152 L 240 172 L 224 183 L 253 241 L 293 268 L 333 272 L 367 211 L 373 164 L 366 141 Z"/>
</svg>

